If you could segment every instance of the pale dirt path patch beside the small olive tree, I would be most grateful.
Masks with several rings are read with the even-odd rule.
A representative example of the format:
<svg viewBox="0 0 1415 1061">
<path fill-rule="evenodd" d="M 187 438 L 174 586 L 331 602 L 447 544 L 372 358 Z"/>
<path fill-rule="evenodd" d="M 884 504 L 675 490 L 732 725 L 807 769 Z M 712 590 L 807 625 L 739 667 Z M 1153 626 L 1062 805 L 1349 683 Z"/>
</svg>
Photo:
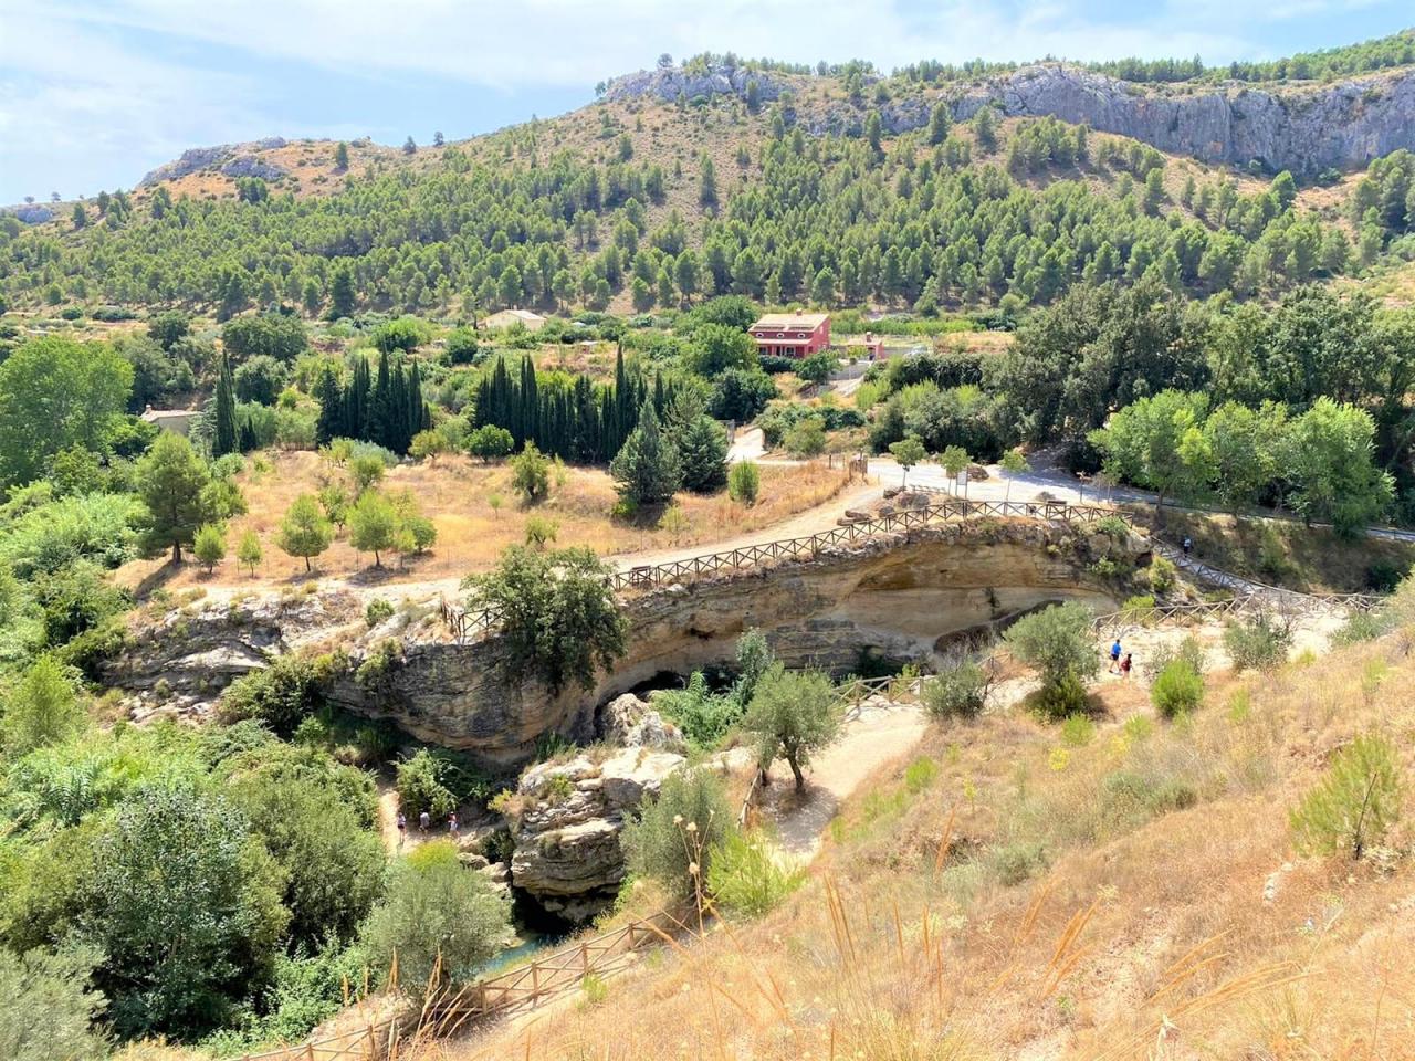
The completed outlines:
<svg viewBox="0 0 1415 1061">
<path fill-rule="evenodd" d="M 913 751 L 924 736 L 924 713 L 911 703 L 866 703 L 845 724 L 841 738 L 811 764 L 807 791 L 798 796 L 791 770 L 778 763 L 758 804 L 781 850 L 809 862 L 821 850 L 831 819 L 880 767 Z"/>
</svg>

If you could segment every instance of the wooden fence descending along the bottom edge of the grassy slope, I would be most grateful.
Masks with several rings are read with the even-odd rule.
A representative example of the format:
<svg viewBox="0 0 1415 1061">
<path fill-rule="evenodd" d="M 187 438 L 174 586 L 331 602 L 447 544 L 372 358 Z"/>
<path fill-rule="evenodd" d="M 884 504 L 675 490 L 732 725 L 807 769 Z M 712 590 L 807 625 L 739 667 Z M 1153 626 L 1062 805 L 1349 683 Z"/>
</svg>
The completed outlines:
<svg viewBox="0 0 1415 1061">
<path fill-rule="evenodd" d="M 661 910 L 621 928 L 468 983 L 433 999 L 417 1013 L 369 1021 L 318 1040 L 245 1054 L 236 1061 L 385 1061 L 410 1037 L 444 1037 L 491 1017 L 536 1006 L 580 987 L 586 978 L 607 978 L 633 965 L 633 955 L 685 931 L 695 931 L 682 911 Z"/>
</svg>

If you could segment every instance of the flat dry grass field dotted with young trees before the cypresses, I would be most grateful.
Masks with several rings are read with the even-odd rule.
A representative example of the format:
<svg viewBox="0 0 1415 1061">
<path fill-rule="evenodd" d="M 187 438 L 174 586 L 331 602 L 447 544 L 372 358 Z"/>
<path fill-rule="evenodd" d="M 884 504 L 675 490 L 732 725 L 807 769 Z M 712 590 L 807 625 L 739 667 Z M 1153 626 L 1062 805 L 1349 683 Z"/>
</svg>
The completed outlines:
<svg viewBox="0 0 1415 1061">
<path fill-rule="evenodd" d="M 195 564 L 187 564 L 166 583 L 167 589 L 232 584 L 258 590 L 310 577 L 304 573 L 303 560 L 286 556 L 276 545 L 279 525 L 299 495 L 317 492 L 323 482 L 340 480 L 344 472 L 308 451 L 276 453 L 266 458 L 270 463 L 269 471 L 256 470 L 256 463 L 250 461 L 239 477 L 250 511 L 231 521 L 226 560 L 211 579 Z M 436 523 L 437 543 L 426 556 L 410 557 L 405 570 L 398 569 L 396 559 L 385 556 L 383 562 L 389 569 L 379 579 L 396 584 L 454 579 L 467 572 L 485 570 L 495 563 L 502 549 L 525 540 L 526 521 L 532 516 L 552 519 L 559 525 L 556 545 L 589 546 L 601 555 L 708 546 L 824 505 L 841 492 L 846 481 L 841 468 L 825 464 L 763 465 L 761 499 L 751 508 L 734 504 L 726 494 L 679 494 L 678 504 L 688 516 L 689 526 L 674 542 L 651 522 L 638 525 L 611 519 L 610 509 L 617 495 L 613 481 L 603 470 L 566 468 L 565 484 L 552 482 L 546 501 L 524 506 L 511 487 L 508 465 L 488 467 L 466 457 L 436 457 L 398 465 L 383 480 L 385 491 L 409 491 L 413 495 Z M 491 506 L 491 497 L 502 499 L 499 509 Z M 259 535 L 265 550 L 265 560 L 255 579 L 238 572 L 235 562 L 236 543 L 248 529 Z M 344 533 L 314 563 L 318 576 L 369 579 L 372 560 L 368 553 L 357 553 Z M 161 564 L 163 560 L 129 563 L 119 570 L 117 580 L 126 586 L 137 586 Z"/>
</svg>

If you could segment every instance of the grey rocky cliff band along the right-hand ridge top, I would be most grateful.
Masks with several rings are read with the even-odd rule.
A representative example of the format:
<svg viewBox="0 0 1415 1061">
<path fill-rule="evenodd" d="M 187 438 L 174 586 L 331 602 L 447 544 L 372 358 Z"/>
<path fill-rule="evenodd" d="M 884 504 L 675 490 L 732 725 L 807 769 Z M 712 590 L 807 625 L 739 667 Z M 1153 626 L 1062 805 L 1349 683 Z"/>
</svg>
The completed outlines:
<svg viewBox="0 0 1415 1061">
<path fill-rule="evenodd" d="M 651 96 L 665 102 L 746 95 L 757 81 L 761 99 L 777 99 L 799 78 L 740 68 L 685 72 L 641 71 L 610 82 L 607 99 Z M 1354 78 L 1330 85 L 1251 88 L 1241 83 L 1138 85 L 1058 62 L 944 89 L 942 96 L 896 96 L 879 110 L 891 133 L 920 129 L 937 99 L 955 119 L 985 103 L 1007 116 L 1053 115 L 1065 122 L 1118 133 L 1162 151 L 1207 163 L 1248 166 L 1312 175 L 1357 167 L 1399 147 L 1415 149 L 1415 72 Z M 859 134 L 873 105 L 843 100 L 798 103 L 794 117 L 811 133 Z"/>
</svg>

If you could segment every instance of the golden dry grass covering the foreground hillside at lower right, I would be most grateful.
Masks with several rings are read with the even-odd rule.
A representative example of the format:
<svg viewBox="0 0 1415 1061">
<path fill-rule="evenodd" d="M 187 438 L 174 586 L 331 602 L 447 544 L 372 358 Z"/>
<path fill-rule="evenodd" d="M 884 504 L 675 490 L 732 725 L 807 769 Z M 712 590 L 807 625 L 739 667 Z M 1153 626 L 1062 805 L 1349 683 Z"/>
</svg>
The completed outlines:
<svg viewBox="0 0 1415 1061">
<path fill-rule="evenodd" d="M 1415 1058 L 1409 859 L 1299 862 L 1286 833 L 1354 731 L 1409 748 L 1405 644 L 1220 676 L 1193 720 L 1148 733 L 1104 689 L 1111 720 L 1060 757 L 1026 716 L 940 729 L 935 779 L 882 771 L 774 914 L 666 952 L 593 1007 L 419 1057 Z M 1373 659 L 1390 672 L 1363 689 Z M 1240 688 L 1251 710 L 1230 709 Z M 1118 772 L 1196 802 L 1126 809 L 1107 798 Z M 1029 845 L 1037 866 L 1007 883 L 1002 853 Z"/>
</svg>

